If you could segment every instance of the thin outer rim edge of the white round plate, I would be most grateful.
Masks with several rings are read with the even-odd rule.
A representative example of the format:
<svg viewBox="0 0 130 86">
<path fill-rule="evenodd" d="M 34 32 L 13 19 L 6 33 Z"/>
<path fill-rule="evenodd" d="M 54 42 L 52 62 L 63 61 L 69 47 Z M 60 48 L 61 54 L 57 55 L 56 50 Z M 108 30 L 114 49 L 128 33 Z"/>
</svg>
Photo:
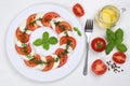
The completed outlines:
<svg viewBox="0 0 130 86">
<path fill-rule="evenodd" d="M 8 55 L 8 58 L 10 59 L 10 62 L 13 64 L 13 67 L 17 70 L 17 72 L 20 72 L 22 75 L 24 75 L 24 76 L 26 76 L 26 77 L 28 77 L 27 75 L 25 75 L 25 74 L 23 74 L 20 70 L 18 70 L 18 68 L 16 68 L 15 67 L 15 64 L 12 62 L 12 60 L 11 60 L 11 57 L 10 57 L 10 54 L 9 54 L 9 51 L 8 51 L 8 38 L 9 38 L 9 32 L 11 31 L 11 26 L 13 25 L 13 23 L 15 23 L 15 19 L 17 19 L 18 17 L 20 17 L 20 15 L 22 15 L 21 13 L 24 13 L 24 12 L 26 12 L 26 11 L 28 11 L 29 9 L 32 9 L 34 6 L 39 6 L 39 5 L 44 5 L 44 3 L 39 3 L 39 4 L 34 4 L 34 5 L 30 5 L 30 6 L 28 6 L 28 8 L 26 8 L 25 10 L 23 10 L 22 12 L 20 12 L 20 14 L 18 15 L 16 15 L 16 17 L 15 18 L 13 18 L 13 20 L 11 20 L 11 24 L 10 24 L 10 27 L 9 27 L 9 30 L 8 30 L 8 32 L 6 32 L 6 37 L 5 37 L 5 51 L 6 51 L 6 55 Z M 70 16 L 73 16 L 73 17 L 75 17 L 69 11 L 67 11 L 65 8 L 63 8 L 62 5 L 55 5 L 55 4 L 52 4 L 52 3 L 48 3 L 48 4 L 46 4 L 46 5 L 51 5 L 51 6 L 56 6 L 56 8 L 60 8 L 60 9 L 63 9 L 63 10 L 65 10 L 66 12 L 68 12 L 68 14 L 70 14 Z M 75 19 L 77 20 L 77 23 L 79 24 L 79 22 L 78 22 L 78 19 L 75 17 Z M 81 24 L 79 24 L 79 26 L 80 26 L 80 28 L 81 28 Z M 81 30 L 81 29 L 80 29 Z M 82 37 L 84 38 L 84 41 L 86 41 L 86 37 L 84 37 L 86 34 L 84 34 L 84 32 L 82 31 Z M 86 43 L 84 43 L 84 46 L 86 46 Z M 86 48 L 84 48 L 86 49 Z M 83 49 L 83 51 L 84 51 Z M 11 55 L 12 56 L 12 55 Z M 83 55 L 81 55 L 81 56 L 83 56 Z M 81 60 L 81 58 L 82 57 L 80 57 L 80 60 Z M 77 66 L 79 64 L 79 62 L 80 62 L 80 60 L 78 61 L 78 63 L 77 63 Z M 76 67 L 77 67 L 76 66 Z M 69 75 L 75 69 L 76 69 L 76 67 L 67 74 L 67 75 Z M 67 75 L 64 75 L 64 76 L 62 76 L 62 77 L 65 77 L 65 76 L 67 76 Z M 62 77 L 58 77 L 58 78 L 56 78 L 56 80 L 60 80 L 60 78 L 62 78 Z M 31 77 L 28 77 L 28 78 L 31 78 Z M 35 80 L 35 78 L 31 78 L 31 80 Z M 53 82 L 53 81 L 56 81 L 56 80 L 51 80 L 51 81 L 39 81 L 39 80 L 35 80 L 35 81 L 39 81 L 39 82 Z"/>
</svg>

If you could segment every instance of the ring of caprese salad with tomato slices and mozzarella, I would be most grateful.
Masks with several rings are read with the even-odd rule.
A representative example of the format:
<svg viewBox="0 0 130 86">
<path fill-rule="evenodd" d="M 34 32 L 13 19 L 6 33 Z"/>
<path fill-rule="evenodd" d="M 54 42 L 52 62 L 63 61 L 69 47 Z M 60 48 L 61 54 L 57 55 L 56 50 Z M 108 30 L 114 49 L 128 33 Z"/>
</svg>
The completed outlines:
<svg viewBox="0 0 130 86">
<path fill-rule="evenodd" d="M 37 54 L 29 43 L 31 33 L 40 29 L 40 27 L 49 27 L 54 30 L 60 38 L 60 47 L 48 56 Z M 73 26 L 55 12 L 29 15 L 27 19 L 17 27 L 15 38 L 15 49 L 17 54 L 21 55 L 25 64 L 41 71 L 49 71 L 64 66 L 77 46 L 77 41 L 73 33 Z"/>
</svg>

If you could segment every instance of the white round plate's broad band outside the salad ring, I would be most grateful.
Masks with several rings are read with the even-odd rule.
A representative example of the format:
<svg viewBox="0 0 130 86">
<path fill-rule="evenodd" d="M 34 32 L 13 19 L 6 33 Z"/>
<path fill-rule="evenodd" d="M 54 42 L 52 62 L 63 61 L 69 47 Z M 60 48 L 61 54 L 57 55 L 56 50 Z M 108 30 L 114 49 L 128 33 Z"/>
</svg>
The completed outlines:
<svg viewBox="0 0 130 86">
<path fill-rule="evenodd" d="M 79 37 L 76 32 L 74 33 L 77 40 L 77 46 L 74 51 L 74 54 L 69 57 L 65 66 L 58 69 L 53 69 L 48 72 L 42 72 L 34 68 L 28 68 L 23 62 L 23 59 L 21 58 L 21 56 L 16 53 L 15 30 L 17 29 L 17 26 L 22 22 L 24 22 L 30 14 L 40 13 L 40 12 L 47 13 L 52 11 L 55 13 L 58 13 L 65 20 L 69 22 L 73 27 L 78 27 L 82 35 Z M 9 59 L 14 66 L 14 68 L 24 76 L 35 81 L 39 81 L 39 82 L 52 82 L 68 75 L 78 66 L 80 59 L 84 54 L 84 51 L 86 51 L 86 35 L 83 30 L 81 29 L 80 24 L 70 12 L 54 4 L 47 4 L 47 3 L 36 4 L 24 10 L 12 22 L 6 34 L 6 52 L 8 52 Z"/>
</svg>

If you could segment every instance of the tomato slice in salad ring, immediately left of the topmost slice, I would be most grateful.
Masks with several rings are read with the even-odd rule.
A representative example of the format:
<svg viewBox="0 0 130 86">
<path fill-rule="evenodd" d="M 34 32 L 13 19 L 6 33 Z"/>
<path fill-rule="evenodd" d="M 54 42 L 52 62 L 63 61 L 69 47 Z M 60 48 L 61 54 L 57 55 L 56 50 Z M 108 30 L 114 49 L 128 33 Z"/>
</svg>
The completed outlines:
<svg viewBox="0 0 130 86">
<path fill-rule="evenodd" d="M 35 29 L 39 28 L 40 26 L 36 24 L 37 14 L 32 14 L 27 18 L 27 29 L 34 31 Z"/>
</svg>

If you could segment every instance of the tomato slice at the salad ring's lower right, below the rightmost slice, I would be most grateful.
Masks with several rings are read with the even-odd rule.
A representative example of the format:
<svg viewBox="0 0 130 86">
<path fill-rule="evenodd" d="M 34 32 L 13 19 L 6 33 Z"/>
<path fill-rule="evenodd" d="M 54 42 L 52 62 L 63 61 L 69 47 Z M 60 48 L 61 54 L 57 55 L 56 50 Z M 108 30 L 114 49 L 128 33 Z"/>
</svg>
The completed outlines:
<svg viewBox="0 0 130 86">
<path fill-rule="evenodd" d="M 64 66 L 66 62 L 67 62 L 67 54 L 64 54 L 65 53 L 65 49 L 63 48 L 57 48 L 55 51 L 55 55 L 58 55 L 60 56 L 60 64 L 58 64 L 58 68 Z"/>
</svg>

